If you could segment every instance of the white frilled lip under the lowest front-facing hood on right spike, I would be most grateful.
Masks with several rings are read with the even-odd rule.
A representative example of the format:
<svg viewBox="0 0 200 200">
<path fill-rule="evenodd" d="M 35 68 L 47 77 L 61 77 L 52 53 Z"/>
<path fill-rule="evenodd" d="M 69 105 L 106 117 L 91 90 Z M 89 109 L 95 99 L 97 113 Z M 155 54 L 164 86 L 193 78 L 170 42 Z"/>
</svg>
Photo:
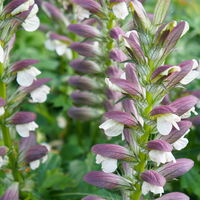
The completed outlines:
<svg viewBox="0 0 200 200">
<path fill-rule="evenodd" d="M 162 193 L 164 193 L 164 189 L 161 186 L 152 185 L 144 181 L 142 184 L 142 194 L 146 195 L 149 192 L 162 195 Z"/>
</svg>

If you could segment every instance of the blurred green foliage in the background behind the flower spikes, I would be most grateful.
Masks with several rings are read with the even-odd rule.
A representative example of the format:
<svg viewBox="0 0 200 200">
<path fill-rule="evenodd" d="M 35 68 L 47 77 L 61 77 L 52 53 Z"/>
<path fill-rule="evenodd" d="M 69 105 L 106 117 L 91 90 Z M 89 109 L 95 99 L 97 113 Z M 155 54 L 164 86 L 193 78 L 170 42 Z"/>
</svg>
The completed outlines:
<svg viewBox="0 0 200 200">
<path fill-rule="evenodd" d="M 148 12 L 153 11 L 155 2 L 156 0 L 146 0 L 145 7 Z M 40 18 L 43 24 L 49 27 L 54 25 L 42 11 Z M 171 55 L 168 62 L 176 64 L 186 59 L 200 59 L 200 0 L 172 0 L 169 19 L 186 20 L 191 28 L 179 42 L 177 51 Z M 45 40 L 46 34 L 42 31 L 19 31 L 12 57 L 12 62 L 27 58 L 40 60 L 37 67 L 43 72 L 42 77 L 52 78 L 52 90 L 46 104 L 34 107 L 24 105 L 24 109 L 32 110 L 38 115 L 38 140 L 53 146 L 48 162 L 38 169 L 37 176 L 34 177 L 35 191 L 30 191 L 30 199 L 78 200 L 86 194 L 99 194 L 109 200 L 120 199 L 117 193 L 99 190 L 82 180 L 88 171 L 99 169 L 95 164 L 94 155 L 90 153 L 90 147 L 95 143 L 105 143 L 106 138 L 98 129 L 100 121 L 83 123 L 67 117 L 67 110 L 72 105 L 69 98 L 72 88 L 67 84 L 67 79 L 74 72 L 64 57 L 58 57 L 54 52 L 45 49 Z M 194 81 L 188 89 L 200 89 L 200 80 Z M 66 128 L 58 127 L 57 116 L 65 117 Z M 192 158 L 195 160 L 195 167 L 175 183 L 169 183 L 167 190 L 182 191 L 189 194 L 192 200 L 197 200 L 200 199 L 199 127 L 193 128 L 188 137 L 190 144 L 177 153 L 176 157 Z M 31 181 L 27 181 L 26 191 L 32 184 Z"/>
</svg>

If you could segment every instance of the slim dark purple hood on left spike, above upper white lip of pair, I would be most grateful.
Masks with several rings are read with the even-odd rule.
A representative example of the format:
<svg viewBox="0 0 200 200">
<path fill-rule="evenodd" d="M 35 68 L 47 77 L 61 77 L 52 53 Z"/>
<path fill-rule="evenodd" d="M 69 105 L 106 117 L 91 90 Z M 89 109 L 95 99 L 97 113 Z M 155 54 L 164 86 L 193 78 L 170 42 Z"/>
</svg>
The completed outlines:
<svg viewBox="0 0 200 200">
<path fill-rule="evenodd" d="M 21 71 L 24 68 L 29 67 L 30 65 L 37 64 L 38 62 L 39 60 L 33 60 L 33 59 L 20 60 L 12 65 L 11 71 L 12 72 Z"/>
</svg>

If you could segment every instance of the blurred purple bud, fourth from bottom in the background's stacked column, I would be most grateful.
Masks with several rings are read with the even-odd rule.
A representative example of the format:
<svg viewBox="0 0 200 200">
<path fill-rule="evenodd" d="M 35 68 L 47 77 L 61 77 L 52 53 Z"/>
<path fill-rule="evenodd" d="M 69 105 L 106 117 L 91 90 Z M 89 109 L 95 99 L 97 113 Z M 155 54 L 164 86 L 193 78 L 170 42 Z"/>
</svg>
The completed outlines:
<svg viewBox="0 0 200 200">
<path fill-rule="evenodd" d="M 81 58 L 75 59 L 70 62 L 70 66 L 77 72 L 84 74 L 96 74 L 101 72 L 100 67 L 93 61 L 84 60 Z"/>
</svg>

